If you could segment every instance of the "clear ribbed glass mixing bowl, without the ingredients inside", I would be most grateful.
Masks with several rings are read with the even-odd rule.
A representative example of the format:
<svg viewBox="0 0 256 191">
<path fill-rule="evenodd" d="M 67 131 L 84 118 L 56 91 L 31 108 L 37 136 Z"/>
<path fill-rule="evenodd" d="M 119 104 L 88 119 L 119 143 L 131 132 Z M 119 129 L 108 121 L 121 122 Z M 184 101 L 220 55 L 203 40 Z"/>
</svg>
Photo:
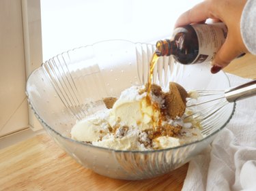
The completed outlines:
<svg viewBox="0 0 256 191">
<path fill-rule="evenodd" d="M 204 139 L 166 150 L 111 150 L 70 139 L 76 120 L 102 109 L 102 98 L 118 97 L 122 90 L 147 82 L 154 49 L 152 44 L 101 41 L 63 52 L 29 76 L 27 97 L 35 116 L 56 143 L 85 168 L 115 179 L 147 179 L 169 173 L 199 154 L 229 122 L 234 103 L 204 120 L 203 128 L 210 127 Z M 229 88 L 225 73 L 210 74 L 209 64 L 180 65 L 171 57 L 158 60 L 153 80 L 162 88 L 169 81 L 186 90 Z"/>
</svg>

